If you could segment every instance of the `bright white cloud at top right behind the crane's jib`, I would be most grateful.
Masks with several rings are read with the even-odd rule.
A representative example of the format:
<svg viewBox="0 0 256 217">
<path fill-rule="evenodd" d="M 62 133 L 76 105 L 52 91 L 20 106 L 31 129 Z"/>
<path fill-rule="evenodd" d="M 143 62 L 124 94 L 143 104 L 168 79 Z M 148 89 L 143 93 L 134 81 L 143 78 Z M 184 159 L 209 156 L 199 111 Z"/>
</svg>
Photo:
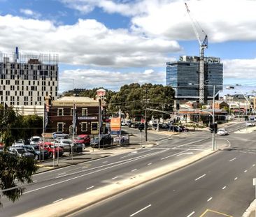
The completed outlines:
<svg viewBox="0 0 256 217">
<path fill-rule="evenodd" d="M 99 7 L 106 13 L 130 16 L 133 31 L 170 40 L 195 39 L 183 0 L 61 0 L 88 13 Z M 209 36 L 210 42 L 255 40 L 256 1 L 190 0 L 190 14 Z"/>
</svg>

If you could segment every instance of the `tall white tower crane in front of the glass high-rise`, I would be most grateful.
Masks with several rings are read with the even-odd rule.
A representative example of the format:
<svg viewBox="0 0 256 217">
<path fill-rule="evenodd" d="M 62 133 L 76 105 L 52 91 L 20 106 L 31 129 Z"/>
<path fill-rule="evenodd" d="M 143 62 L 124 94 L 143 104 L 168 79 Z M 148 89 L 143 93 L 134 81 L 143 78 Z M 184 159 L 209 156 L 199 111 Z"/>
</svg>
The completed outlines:
<svg viewBox="0 0 256 217">
<path fill-rule="evenodd" d="M 197 37 L 197 40 L 199 42 L 199 45 L 200 45 L 200 59 L 199 59 L 199 103 L 202 103 L 204 104 L 204 99 L 205 99 L 205 96 L 204 96 L 204 49 L 206 49 L 208 47 L 208 36 L 206 35 L 206 33 L 204 32 L 203 29 L 201 29 L 201 32 L 204 34 L 204 40 L 201 40 L 200 36 L 199 36 L 199 33 L 197 31 L 197 28 L 196 28 L 196 25 L 195 25 L 195 21 L 193 19 L 193 17 L 190 15 L 190 9 L 188 8 L 187 6 L 187 3 L 185 3 L 185 7 L 187 9 L 187 14 L 189 15 L 190 17 L 190 20 L 191 20 L 191 24 L 192 24 L 192 27 L 193 27 L 193 30 L 194 30 L 194 34 L 196 35 Z M 214 96 L 213 96 L 214 97 Z"/>
</svg>

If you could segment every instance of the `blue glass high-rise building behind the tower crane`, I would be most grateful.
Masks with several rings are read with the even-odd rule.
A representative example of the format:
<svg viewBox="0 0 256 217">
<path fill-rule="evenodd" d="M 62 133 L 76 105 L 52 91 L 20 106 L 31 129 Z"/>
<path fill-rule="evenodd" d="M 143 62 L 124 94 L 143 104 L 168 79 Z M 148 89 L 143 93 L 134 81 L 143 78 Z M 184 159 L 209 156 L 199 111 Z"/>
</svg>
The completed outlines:
<svg viewBox="0 0 256 217">
<path fill-rule="evenodd" d="M 205 100 L 213 99 L 222 90 L 223 64 L 220 58 L 204 59 Z M 173 87 L 178 100 L 199 100 L 199 57 L 183 56 L 179 61 L 166 63 L 166 85 Z"/>
</svg>

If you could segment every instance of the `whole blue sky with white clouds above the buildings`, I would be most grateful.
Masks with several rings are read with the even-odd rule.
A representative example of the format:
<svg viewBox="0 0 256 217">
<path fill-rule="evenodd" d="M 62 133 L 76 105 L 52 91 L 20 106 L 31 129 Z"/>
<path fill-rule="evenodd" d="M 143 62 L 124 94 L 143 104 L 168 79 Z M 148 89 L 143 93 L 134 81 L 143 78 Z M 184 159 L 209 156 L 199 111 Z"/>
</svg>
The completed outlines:
<svg viewBox="0 0 256 217">
<path fill-rule="evenodd" d="M 256 1 L 186 2 L 225 84 L 253 88 Z M 59 54 L 59 91 L 166 84 L 166 61 L 199 55 L 183 0 L 0 0 L 0 29 L 0 52 Z"/>
</svg>

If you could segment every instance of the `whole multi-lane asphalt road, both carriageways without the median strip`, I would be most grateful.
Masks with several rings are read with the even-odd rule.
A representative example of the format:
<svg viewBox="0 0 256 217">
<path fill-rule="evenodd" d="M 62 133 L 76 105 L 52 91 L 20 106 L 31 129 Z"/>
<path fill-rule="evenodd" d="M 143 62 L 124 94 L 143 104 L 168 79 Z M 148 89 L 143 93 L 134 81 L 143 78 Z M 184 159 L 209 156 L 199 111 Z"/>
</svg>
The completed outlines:
<svg viewBox="0 0 256 217">
<path fill-rule="evenodd" d="M 240 126 L 230 126 L 229 131 Z M 148 138 L 157 140 L 159 145 L 34 175 L 34 184 L 26 186 L 20 200 L 12 203 L 2 198 L 1 216 L 17 216 L 48 204 L 57 205 L 71 196 L 155 170 L 212 146 L 211 134 L 204 131 L 171 137 L 149 134 Z M 216 140 L 218 147 L 230 146 L 230 151 L 218 151 L 76 215 L 200 216 L 206 212 L 210 216 L 211 211 L 216 211 L 241 216 L 254 195 L 255 133 L 229 133 Z"/>
</svg>

